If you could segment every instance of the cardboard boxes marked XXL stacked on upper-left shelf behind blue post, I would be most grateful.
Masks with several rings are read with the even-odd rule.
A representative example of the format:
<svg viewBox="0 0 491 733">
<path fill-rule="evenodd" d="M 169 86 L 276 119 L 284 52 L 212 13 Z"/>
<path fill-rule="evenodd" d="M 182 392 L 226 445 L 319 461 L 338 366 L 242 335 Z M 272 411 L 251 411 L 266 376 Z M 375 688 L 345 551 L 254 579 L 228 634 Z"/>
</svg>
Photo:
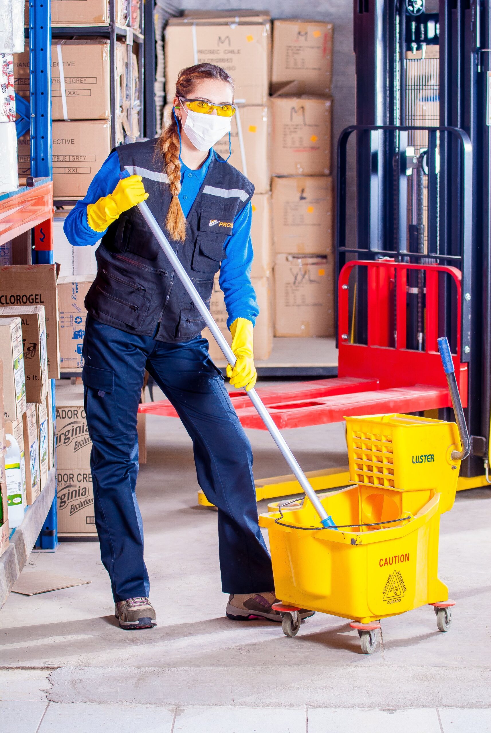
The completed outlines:
<svg viewBox="0 0 491 733">
<path fill-rule="evenodd" d="M 116 3 L 117 23 L 138 29 L 139 0 Z M 28 4 L 26 4 L 26 8 Z M 26 10 L 29 19 L 29 10 Z M 53 26 L 107 26 L 107 0 L 51 1 Z M 139 70 L 132 46 L 116 44 L 117 141 L 139 137 Z M 111 151 L 110 44 L 107 39 L 54 40 L 51 44 L 53 195 L 83 198 Z M 128 54 L 132 73 L 128 75 Z M 15 92 L 29 98 L 29 49 L 14 55 Z M 130 111 L 134 114 L 130 114 Z M 18 172 L 30 173 L 29 133 L 18 141 Z"/>
</svg>

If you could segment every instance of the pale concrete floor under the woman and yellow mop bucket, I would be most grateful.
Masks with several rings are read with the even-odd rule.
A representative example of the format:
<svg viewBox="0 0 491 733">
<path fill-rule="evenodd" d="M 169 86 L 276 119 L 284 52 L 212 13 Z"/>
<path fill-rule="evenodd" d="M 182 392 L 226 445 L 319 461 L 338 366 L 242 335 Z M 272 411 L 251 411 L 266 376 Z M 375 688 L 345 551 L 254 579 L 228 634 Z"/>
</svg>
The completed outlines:
<svg viewBox="0 0 491 733">
<path fill-rule="evenodd" d="M 382 649 L 366 656 L 358 635 L 333 616 L 316 614 L 295 638 L 284 637 L 279 625 L 270 622 L 226 619 L 217 517 L 197 507 L 191 443 L 177 420 L 149 416 L 147 428 L 148 463 L 141 467 L 137 492 L 158 627 L 125 633 L 115 625 L 96 542 L 63 543 L 54 554 L 33 553 L 23 572 L 46 570 L 92 582 L 33 597 L 11 594 L 0 611 L 4 715 L 17 720 L 19 701 L 25 711 L 31 704 L 40 706 L 32 708 L 35 720 L 44 715 L 41 727 L 38 720 L 10 731 L 61 730 L 46 721 L 56 715 L 64 720 L 67 704 L 92 703 L 99 718 L 111 704 L 141 707 L 140 712 L 163 706 L 165 715 L 170 710 L 169 726 L 162 712 L 161 727 L 148 723 L 144 731 L 217 732 L 222 729 L 218 719 L 230 714 L 237 725 L 223 723 L 228 733 L 268 726 L 272 732 L 304 731 L 307 716 L 310 733 L 334 732 L 348 722 L 346 711 L 356 716 L 360 708 L 371 710 L 375 718 L 363 719 L 366 725 L 372 720 L 366 730 L 373 725 L 377 733 L 393 731 L 394 725 L 401 732 L 489 733 L 491 490 L 460 493 L 454 509 L 442 517 L 439 574 L 457 600 L 451 631 L 439 633 L 432 609 L 419 608 L 385 619 Z M 286 473 L 270 436 L 262 431 L 248 435 L 256 478 Z M 306 471 L 347 463 L 341 424 L 292 430 L 286 436 Z M 220 712 L 207 712 L 209 706 L 221 706 Z M 243 709 L 238 716 L 237 706 Z M 75 707 L 70 708 L 74 715 Z M 278 725 L 270 725 L 267 717 L 256 728 L 258 707 L 274 707 Z M 184 725 L 185 712 L 184 727 L 179 727 L 182 711 L 191 708 L 194 722 Z M 291 710 L 282 717 L 285 708 Z M 388 721 L 389 712 L 409 715 L 409 709 L 426 709 L 427 722 L 407 716 Z M 459 710 L 449 712 L 454 709 Z M 249 720 L 246 710 L 252 711 L 250 725 L 244 723 Z M 336 710 L 339 726 L 333 723 Z M 385 710 L 387 728 L 376 718 L 379 710 Z M 206 723 L 209 714 L 213 725 Z M 103 723 L 100 729 L 109 730 Z"/>
</svg>

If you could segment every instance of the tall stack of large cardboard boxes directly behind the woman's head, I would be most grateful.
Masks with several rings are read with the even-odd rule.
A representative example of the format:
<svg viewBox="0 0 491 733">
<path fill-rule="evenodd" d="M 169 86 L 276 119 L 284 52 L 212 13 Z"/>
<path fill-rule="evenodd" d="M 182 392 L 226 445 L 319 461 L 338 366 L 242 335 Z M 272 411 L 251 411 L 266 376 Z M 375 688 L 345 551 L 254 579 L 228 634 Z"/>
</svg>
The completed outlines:
<svg viewBox="0 0 491 733">
<path fill-rule="evenodd" d="M 230 147 L 229 136 L 226 135 L 215 145 L 215 150 L 223 158 L 229 158 L 229 162 L 254 184 L 251 232 L 254 263 L 251 278 L 259 306 L 262 306 L 254 328 L 254 354 L 257 360 L 267 359 L 273 345 L 273 309 L 270 303 L 273 265 L 269 166 L 270 29 L 268 12 L 186 11 L 180 18 L 171 18 L 165 35 L 168 105 L 163 114 L 164 124 L 169 122 L 175 81 L 182 68 L 210 62 L 223 67 L 235 81 L 237 112 L 232 117 Z M 230 340 L 218 276 L 210 311 Z M 207 331 L 204 331 L 204 336 L 209 336 Z M 224 361 L 211 336 L 209 341 L 212 358 Z"/>
</svg>

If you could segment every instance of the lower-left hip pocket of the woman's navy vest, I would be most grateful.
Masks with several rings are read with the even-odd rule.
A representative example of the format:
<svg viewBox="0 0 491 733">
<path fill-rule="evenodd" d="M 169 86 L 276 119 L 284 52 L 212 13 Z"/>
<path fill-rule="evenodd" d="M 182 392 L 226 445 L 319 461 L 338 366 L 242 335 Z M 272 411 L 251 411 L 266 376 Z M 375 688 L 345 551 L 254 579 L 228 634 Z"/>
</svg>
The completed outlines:
<svg viewBox="0 0 491 733">
<path fill-rule="evenodd" d="M 96 312 L 138 328 L 146 316 L 154 288 L 130 281 L 122 274 L 99 269 L 90 288 L 90 301 Z"/>
</svg>

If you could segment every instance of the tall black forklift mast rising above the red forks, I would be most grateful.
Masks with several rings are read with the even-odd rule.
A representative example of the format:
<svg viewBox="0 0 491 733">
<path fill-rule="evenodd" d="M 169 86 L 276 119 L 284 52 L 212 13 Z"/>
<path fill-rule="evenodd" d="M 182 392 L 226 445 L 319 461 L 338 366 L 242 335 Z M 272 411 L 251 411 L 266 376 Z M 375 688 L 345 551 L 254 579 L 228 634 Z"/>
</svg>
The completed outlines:
<svg viewBox="0 0 491 733">
<path fill-rule="evenodd" d="M 427 0 L 427 4 L 428 0 Z M 434 3 L 433 3 L 434 5 Z M 432 7 L 435 11 L 435 7 Z M 435 18 L 435 15 L 432 15 Z M 394 166 L 399 151 L 396 134 L 404 135 L 405 56 L 415 17 L 405 0 L 354 0 L 356 71 L 356 246 L 338 253 L 339 259 L 357 254 L 365 259 L 397 257 L 405 250 L 407 202 L 397 177 L 403 162 Z M 419 21 L 418 21 L 419 22 Z M 462 361 L 468 362 L 468 408 L 465 419 L 471 435 L 471 454 L 461 475 L 481 476 L 487 467 L 491 410 L 491 3 L 489 0 L 439 0 L 440 45 L 440 180 L 429 174 L 428 210 L 439 208 L 438 257 L 462 270 Z M 407 24 L 411 23 L 408 28 Z M 434 41 L 435 43 L 435 41 Z M 436 147 L 436 128 L 428 129 L 428 160 Z M 382 130 L 378 136 L 370 130 Z M 474 151 L 471 174 L 463 179 L 464 156 L 455 137 L 461 130 Z M 351 130 L 352 131 L 352 130 Z M 375 139 L 377 138 L 377 139 Z M 399 139 L 402 148 L 404 140 Z M 346 186 L 345 161 L 339 161 L 339 191 Z M 343 174 L 344 170 L 344 174 Z M 344 177 L 344 180 L 342 180 Z M 402 193 L 401 193 L 402 190 Z M 396 196 L 394 191 L 399 191 Z M 462 221 L 463 198 L 471 197 L 470 221 Z M 339 222 L 337 224 L 339 226 Z M 397 229 L 396 229 L 397 226 Z M 435 257 L 437 219 L 428 217 L 428 243 Z M 462 226 L 468 245 L 461 251 Z M 396 246 L 394 244 L 396 243 Z M 361 250 L 359 252 L 358 250 Z M 407 253 L 409 254 L 409 253 Z M 411 252 L 417 259 L 417 253 Z M 415 261 L 415 259 L 413 259 Z M 363 283 L 361 283 L 363 290 Z M 363 292 L 360 292 L 363 296 Z M 449 292 L 440 292 L 440 328 L 450 331 Z M 358 324 L 361 332 L 363 323 Z M 440 334 L 445 335 L 445 334 Z M 449 410 L 441 416 L 451 419 Z"/>
</svg>

